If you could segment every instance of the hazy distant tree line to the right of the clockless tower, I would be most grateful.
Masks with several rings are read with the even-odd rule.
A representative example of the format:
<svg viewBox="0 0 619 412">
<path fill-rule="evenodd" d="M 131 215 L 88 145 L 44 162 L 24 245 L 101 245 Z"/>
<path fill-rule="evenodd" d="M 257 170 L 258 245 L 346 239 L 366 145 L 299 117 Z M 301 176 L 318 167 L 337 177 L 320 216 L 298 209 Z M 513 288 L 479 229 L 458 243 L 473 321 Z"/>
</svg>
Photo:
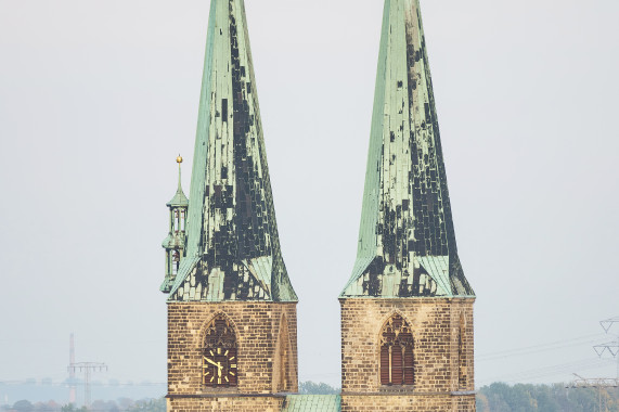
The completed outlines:
<svg viewBox="0 0 619 412">
<path fill-rule="evenodd" d="M 494 383 L 477 391 L 477 412 L 596 411 L 619 411 L 619 389 Z"/>
</svg>

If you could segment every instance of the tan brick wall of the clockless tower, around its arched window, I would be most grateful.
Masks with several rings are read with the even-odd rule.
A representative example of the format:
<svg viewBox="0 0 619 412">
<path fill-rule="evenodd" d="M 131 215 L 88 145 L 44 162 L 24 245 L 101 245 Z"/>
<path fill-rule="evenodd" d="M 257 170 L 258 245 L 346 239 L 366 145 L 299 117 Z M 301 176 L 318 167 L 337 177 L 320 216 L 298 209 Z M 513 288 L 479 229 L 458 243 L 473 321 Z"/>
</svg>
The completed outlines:
<svg viewBox="0 0 619 412">
<path fill-rule="evenodd" d="M 340 298 L 341 411 L 475 411 L 473 298 Z M 414 337 L 415 384 L 384 386 L 379 335 L 399 313 Z M 462 361 L 459 362 L 459 334 Z"/>
</svg>

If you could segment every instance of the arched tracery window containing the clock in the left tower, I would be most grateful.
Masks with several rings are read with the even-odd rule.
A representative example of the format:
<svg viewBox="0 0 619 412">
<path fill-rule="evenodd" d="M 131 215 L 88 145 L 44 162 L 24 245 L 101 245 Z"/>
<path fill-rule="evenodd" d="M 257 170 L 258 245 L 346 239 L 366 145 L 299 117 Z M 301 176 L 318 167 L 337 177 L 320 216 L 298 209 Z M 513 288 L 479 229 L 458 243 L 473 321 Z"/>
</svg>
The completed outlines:
<svg viewBox="0 0 619 412">
<path fill-rule="evenodd" d="M 206 327 L 202 360 L 202 382 L 211 387 L 238 384 L 236 334 L 230 321 L 218 314 Z"/>
</svg>

